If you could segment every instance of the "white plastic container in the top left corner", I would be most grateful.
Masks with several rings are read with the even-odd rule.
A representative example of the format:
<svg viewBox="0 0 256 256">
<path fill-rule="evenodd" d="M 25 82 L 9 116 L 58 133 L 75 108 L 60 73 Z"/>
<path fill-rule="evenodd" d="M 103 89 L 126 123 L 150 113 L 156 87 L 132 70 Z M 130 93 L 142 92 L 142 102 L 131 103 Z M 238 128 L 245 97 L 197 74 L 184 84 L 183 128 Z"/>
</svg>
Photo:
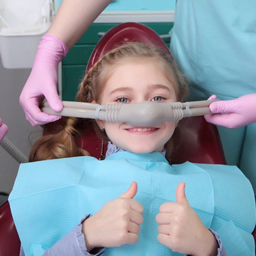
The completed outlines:
<svg viewBox="0 0 256 256">
<path fill-rule="evenodd" d="M 52 0 L 0 1 L 0 56 L 5 68 L 31 68 L 51 25 Z"/>
</svg>

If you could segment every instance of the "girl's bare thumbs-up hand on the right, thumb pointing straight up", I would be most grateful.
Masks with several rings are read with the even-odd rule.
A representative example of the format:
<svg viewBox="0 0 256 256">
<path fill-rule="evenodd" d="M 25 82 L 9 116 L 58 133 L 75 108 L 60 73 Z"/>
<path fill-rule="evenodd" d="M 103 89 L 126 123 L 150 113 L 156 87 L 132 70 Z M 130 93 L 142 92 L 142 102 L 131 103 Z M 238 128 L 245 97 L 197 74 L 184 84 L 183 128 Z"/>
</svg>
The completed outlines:
<svg viewBox="0 0 256 256">
<path fill-rule="evenodd" d="M 217 255 L 217 241 L 190 206 L 184 182 L 176 189 L 176 202 L 163 203 L 156 215 L 157 239 L 161 244 L 186 255 Z"/>
</svg>

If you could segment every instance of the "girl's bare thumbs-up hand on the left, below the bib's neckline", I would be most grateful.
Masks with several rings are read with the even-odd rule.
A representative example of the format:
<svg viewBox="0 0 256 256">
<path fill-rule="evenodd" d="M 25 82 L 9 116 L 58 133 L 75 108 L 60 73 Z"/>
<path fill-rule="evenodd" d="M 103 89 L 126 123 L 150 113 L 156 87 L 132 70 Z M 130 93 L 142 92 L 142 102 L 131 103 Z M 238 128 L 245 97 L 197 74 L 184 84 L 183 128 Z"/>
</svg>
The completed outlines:
<svg viewBox="0 0 256 256">
<path fill-rule="evenodd" d="M 135 201 L 137 183 L 114 200 L 107 202 L 96 214 L 82 223 L 88 252 L 95 247 L 114 247 L 138 241 L 143 206 Z"/>
</svg>

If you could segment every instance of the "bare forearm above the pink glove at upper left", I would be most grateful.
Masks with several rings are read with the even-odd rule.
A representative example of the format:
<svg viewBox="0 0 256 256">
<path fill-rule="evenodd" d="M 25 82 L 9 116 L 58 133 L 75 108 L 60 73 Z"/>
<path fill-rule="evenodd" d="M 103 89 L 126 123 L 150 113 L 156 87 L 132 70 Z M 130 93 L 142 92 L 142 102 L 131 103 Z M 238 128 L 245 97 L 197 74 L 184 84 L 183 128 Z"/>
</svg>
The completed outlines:
<svg viewBox="0 0 256 256">
<path fill-rule="evenodd" d="M 111 0 L 63 0 L 49 28 L 70 49 Z"/>
</svg>

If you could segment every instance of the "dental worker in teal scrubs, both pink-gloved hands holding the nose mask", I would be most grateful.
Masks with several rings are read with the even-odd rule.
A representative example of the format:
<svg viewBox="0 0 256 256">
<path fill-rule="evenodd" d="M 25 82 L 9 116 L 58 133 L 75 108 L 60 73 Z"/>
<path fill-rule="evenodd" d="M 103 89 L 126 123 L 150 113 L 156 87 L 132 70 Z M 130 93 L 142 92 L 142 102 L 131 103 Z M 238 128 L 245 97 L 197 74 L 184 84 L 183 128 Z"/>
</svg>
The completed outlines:
<svg viewBox="0 0 256 256">
<path fill-rule="evenodd" d="M 31 74 L 20 95 L 20 104 L 32 125 L 60 118 L 41 112 L 39 104 L 46 98 L 53 110 L 63 109 L 56 88 L 58 64 L 110 2 L 61 2 L 49 31 L 38 47 Z M 253 123 L 235 130 L 220 128 L 220 132 L 228 163 L 240 166 L 254 187 L 255 5 L 254 0 L 178 0 L 171 32 L 171 51 L 192 80 L 193 99 L 205 100 L 216 94 L 225 100 L 212 104 L 211 109 L 217 115 L 207 117 L 207 120 L 227 127 Z M 250 94 L 247 96 L 249 99 L 226 101 L 246 94 Z M 230 104 L 234 107 L 229 107 Z M 220 116 L 218 113 L 223 111 L 225 113 Z M 227 119 L 231 113 L 235 118 Z"/>
</svg>

